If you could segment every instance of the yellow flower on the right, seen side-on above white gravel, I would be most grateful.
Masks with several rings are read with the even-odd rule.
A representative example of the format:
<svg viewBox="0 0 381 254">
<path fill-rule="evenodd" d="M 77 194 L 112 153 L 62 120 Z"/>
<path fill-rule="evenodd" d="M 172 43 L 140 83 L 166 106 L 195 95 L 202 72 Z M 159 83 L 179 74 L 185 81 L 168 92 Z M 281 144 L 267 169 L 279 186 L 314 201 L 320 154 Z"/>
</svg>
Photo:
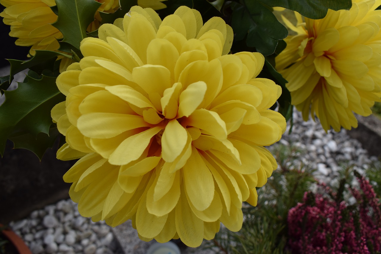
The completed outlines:
<svg viewBox="0 0 381 254">
<path fill-rule="evenodd" d="M 288 80 L 291 103 L 303 113 L 316 115 L 327 131 L 357 127 L 354 113 L 368 116 L 381 101 L 380 0 L 354 1 L 350 10 L 328 10 L 323 19 L 297 26 L 283 17 L 297 35 L 277 56 L 276 68 Z"/>
</svg>

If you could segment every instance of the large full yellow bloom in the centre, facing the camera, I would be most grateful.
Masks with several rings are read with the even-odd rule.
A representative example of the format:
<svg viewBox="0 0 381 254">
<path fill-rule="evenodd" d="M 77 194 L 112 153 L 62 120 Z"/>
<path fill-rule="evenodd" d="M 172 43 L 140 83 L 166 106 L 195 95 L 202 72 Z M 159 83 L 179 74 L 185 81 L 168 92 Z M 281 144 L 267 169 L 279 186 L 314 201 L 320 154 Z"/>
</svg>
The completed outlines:
<svg viewBox="0 0 381 254">
<path fill-rule="evenodd" d="M 52 110 L 66 136 L 59 159 L 81 158 L 65 175 L 78 211 L 116 226 L 131 219 L 142 240 L 212 239 L 220 222 L 242 227 L 242 201 L 256 205 L 277 163 L 284 117 L 268 108 L 281 88 L 255 78 L 260 53 L 229 53 L 223 19 L 203 25 L 181 6 L 163 21 L 138 6 L 57 79 L 66 101 Z"/>
</svg>

